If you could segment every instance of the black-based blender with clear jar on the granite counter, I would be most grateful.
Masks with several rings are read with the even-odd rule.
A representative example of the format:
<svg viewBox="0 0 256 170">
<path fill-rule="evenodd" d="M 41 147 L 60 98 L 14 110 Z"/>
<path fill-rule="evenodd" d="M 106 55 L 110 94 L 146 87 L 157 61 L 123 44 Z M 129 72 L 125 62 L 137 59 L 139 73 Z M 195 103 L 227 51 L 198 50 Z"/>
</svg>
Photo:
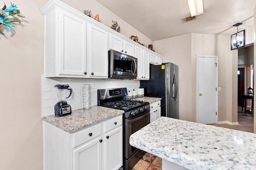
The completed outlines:
<svg viewBox="0 0 256 170">
<path fill-rule="evenodd" d="M 57 97 L 59 101 L 54 106 L 55 116 L 62 117 L 62 116 L 70 115 L 72 113 L 71 106 L 65 101 L 65 99 L 71 96 L 72 88 L 69 88 L 68 84 L 56 84 L 54 87 L 58 89 Z M 68 90 L 70 91 L 70 94 L 66 98 Z"/>
</svg>

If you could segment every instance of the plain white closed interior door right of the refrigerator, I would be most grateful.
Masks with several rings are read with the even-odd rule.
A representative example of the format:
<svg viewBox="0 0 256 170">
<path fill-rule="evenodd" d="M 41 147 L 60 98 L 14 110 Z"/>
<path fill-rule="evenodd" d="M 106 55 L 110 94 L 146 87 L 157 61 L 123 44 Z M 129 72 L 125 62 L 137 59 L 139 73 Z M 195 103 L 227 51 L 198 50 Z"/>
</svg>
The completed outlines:
<svg viewBox="0 0 256 170">
<path fill-rule="evenodd" d="M 197 122 L 218 122 L 218 58 L 197 55 Z"/>
</svg>

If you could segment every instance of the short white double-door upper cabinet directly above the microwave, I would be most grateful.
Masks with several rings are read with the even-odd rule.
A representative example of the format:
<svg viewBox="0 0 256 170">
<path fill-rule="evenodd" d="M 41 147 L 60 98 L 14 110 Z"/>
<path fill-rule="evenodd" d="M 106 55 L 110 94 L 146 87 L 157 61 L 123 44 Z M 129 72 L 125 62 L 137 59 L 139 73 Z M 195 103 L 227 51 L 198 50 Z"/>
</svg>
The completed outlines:
<svg viewBox="0 0 256 170">
<path fill-rule="evenodd" d="M 132 40 L 131 40 L 132 41 Z M 109 48 L 120 53 L 134 56 L 134 45 L 113 34 L 109 34 Z"/>
</svg>

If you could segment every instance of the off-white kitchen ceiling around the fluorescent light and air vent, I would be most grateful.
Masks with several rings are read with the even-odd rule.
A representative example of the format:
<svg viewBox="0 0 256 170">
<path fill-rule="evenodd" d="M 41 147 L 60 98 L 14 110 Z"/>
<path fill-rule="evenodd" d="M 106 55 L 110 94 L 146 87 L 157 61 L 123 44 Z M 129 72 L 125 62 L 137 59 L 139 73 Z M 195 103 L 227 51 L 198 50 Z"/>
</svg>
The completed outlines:
<svg viewBox="0 0 256 170">
<path fill-rule="evenodd" d="M 182 23 L 190 16 L 187 0 L 96 0 L 153 41 L 202 33 L 232 35 L 251 27 L 256 0 L 203 0 L 204 14 Z M 120 25 L 122 29 L 122 25 Z"/>
</svg>

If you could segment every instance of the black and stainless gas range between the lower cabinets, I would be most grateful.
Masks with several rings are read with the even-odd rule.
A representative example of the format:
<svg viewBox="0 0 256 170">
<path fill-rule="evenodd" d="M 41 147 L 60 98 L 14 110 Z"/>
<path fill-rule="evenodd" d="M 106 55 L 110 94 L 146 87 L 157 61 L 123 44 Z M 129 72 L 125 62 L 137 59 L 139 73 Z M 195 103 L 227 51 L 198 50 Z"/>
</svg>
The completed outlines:
<svg viewBox="0 0 256 170">
<path fill-rule="evenodd" d="M 132 147 L 129 138 L 132 133 L 150 123 L 149 102 L 127 100 L 126 88 L 98 90 L 98 106 L 124 110 L 123 114 L 123 166 L 124 170 L 132 170 L 138 162 L 139 149 Z"/>
</svg>

